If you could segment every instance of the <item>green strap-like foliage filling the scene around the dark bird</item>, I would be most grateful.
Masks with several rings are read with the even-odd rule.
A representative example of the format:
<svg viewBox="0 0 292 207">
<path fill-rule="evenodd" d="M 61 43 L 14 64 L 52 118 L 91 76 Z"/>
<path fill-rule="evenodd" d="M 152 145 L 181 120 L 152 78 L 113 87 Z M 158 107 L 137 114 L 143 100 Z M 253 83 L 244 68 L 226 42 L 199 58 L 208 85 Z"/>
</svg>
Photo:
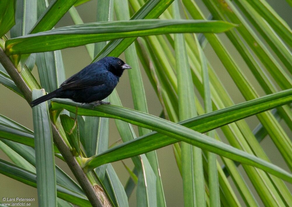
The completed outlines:
<svg viewBox="0 0 292 207">
<path fill-rule="evenodd" d="M 84 24 L 75 6 L 86 6 L 87 1 L 0 1 L 0 55 L 4 50 L 12 65 L 0 59 L 0 83 L 30 102 L 44 94 L 41 88 L 51 92 L 65 80 L 59 49 L 85 45 L 92 61 L 124 52 L 133 68 L 128 73 L 134 109 L 124 108 L 114 90 L 107 98 L 112 105 L 92 108 L 53 99 L 34 107 L 34 132 L 0 115 L 0 149 L 12 162 L 0 159 L 0 173 L 37 187 L 39 206 L 128 206 L 135 185 L 137 206 L 166 206 L 167 183 L 162 182 L 155 150 L 173 144 L 172 164 L 182 176 L 185 206 L 290 206 L 287 185 L 292 174 L 271 163 L 259 144 L 269 135 L 292 169 L 292 32 L 280 15 L 265 0 L 203 0 L 213 20 L 206 20 L 194 0 L 110 0 L 98 1 L 97 21 Z M 54 29 L 67 11 L 76 25 Z M 5 36 L 9 30 L 11 39 Z M 220 32 L 256 82 L 248 80 L 230 45 L 214 34 Z M 203 34 L 199 39 L 194 33 Z M 234 104 L 225 80 L 216 75 L 217 66 L 204 52 L 206 44 L 245 102 Z M 18 79 L 11 73 L 13 64 Z M 35 64 L 40 83 L 31 73 Z M 145 70 L 161 103 L 162 118 L 148 113 L 140 70 Z M 258 95 L 262 91 L 257 85 L 264 96 Z M 32 96 L 23 96 L 25 90 Z M 277 113 L 269 111 L 273 108 Z M 252 115 L 260 121 L 254 133 L 244 120 Z M 114 147 L 108 146 L 109 119 L 115 120 L 124 142 Z M 139 136 L 132 125 L 138 126 Z M 54 144 L 53 136 L 62 139 L 54 139 Z M 80 186 L 55 165 L 54 155 L 69 165 L 68 160 L 76 162 L 78 172 L 73 173 Z M 111 162 L 126 158 L 135 168 L 125 165 L 130 180 L 124 188 Z M 248 178 L 241 175 L 239 164 Z M 227 180 L 229 175 L 235 185 Z"/>
</svg>

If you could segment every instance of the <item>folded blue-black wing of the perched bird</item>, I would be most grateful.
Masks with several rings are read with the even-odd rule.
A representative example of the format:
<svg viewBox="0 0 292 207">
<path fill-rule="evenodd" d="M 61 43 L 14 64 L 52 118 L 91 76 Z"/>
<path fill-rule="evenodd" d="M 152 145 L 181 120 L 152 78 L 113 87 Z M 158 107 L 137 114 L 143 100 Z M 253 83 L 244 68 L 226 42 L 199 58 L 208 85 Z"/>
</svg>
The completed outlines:
<svg viewBox="0 0 292 207">
<path fill-rule="evenodd" d="M 90 70 L 81 70 L 79 73 L 65 80 L 60 85 L 60 88 L 62 90 L 75 90 L 102 85 L 106 82 L 106 76 L 106 72 L 92 73 Z"/>
</svg>

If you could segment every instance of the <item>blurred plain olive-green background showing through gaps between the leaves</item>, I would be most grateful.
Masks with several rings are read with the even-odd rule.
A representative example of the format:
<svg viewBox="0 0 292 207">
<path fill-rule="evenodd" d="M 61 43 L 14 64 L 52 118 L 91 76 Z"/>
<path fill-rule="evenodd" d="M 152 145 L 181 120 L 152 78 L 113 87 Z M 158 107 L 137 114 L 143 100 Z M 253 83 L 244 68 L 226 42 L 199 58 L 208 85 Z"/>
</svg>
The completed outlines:
<svg viewBox="0 0 292 207">
<path fill-rule="evenodd" d="M 277 11 L 277 13 L 291 27 L 292 26 L 292 15 L 291 15 L 292 9 L 286 3 L 286 1 L 285 0 L 266 0 L 266 1 L 274 8 L 275 11 Z M 196 2 L 200 6 L 203 5 L 200 1 L 196 0 Z M 83 19 L 84 23 L 94 22 L 97 15 L 96 1 L 92 0 L 81 6 L 78 6 L 77 11 L 81 15 L 81 18 Z M 205 9 L 205 12 L 206 14 L 208 13 L 206 9 Z M 63 26 L 72 25 L 72 24 L 73 24 L 73 21 L 70 15 L 67 13 L 59 21 L 56 27 L 63 27 Z M 257 85 L 256 84 L 257 82 L 255 81 L 253 75 L 246 68 L 245 63 L 241 60 L 241 57 L 237 53 L 236 49 L 234 49 L 233 46 L 230 44 L 225 34 L 220 34 L 220 38 L 228 46 L 227 48 L 229 48 L 230 53 L 234 56 L 234 59 L 238 60 L 239 65 L 242 66 L 242 70 L 244 71 L 248 79 L 252 82 L 252 84 Z M 213 65 L 213 68 L 216 70 L 216 73 L 218 74 L 220 79 L 224 82 L 225 87 L 227 91 L 230 93 L 234 102 L 236 104 L 243 102 L 244 98 L 241 96 L 237 87 L 232 82 L 232 79 L 230 78 L 228 73 L 225 71 L 223 65 L 218 60 L 211 46 L 207 44 L 204 52 L 208 60 Z M 84 46 L 63 49 L 62 57 L 63 57 L 63 63 L 65 66 L 65 72 L 66 72 L 67 78 L 77 73 L 79 70 L 81 70 L 82 68 L 84 68 L 86 65 L 88 65 L 91 62 Z M 124 59 L 123 56 L 121 56 L 121 58 Z M 135 68 L 131 70 L 135 70 Z M 160 106 L 159 100 L 157 99 L 157 96 L 155 95 L 155 92 L 152 89 L 152 86 L 150 82 L 148 81 L 146 74 L 144 73 L 144 71 L 141 71 L 141 72 L 142 72 L 143 80 L 144 80 L 149 113 L 159 116 L 162 109 Z M 36 69 L 33 70 L 33 74 L 35 75 L 35 77 L 38 77 Z M 263 90 L 260 89 L 260 87 L 258 87 L 257 90 L 260 92 L 260 96 L 264 95 L 264 92 Z M 121 77 L 120 82 L 117 86 L 117 91 L 119 93 L 123 106 L 128 107 L 128 108 L 134 108 L 132 97 L 131 97 L 131 89 L 128 82 L 127 72 L 125 72 L 124 75 Z M 9 89 L 4 87 L 3 85 L 0 85 L 0 97 L 1 97 L 0 113 L 28 127 L 29 129 L 33 130 L 32 110 L 27 104 L 27 102 L 24 99 L 21 99 L 17 94 L 11 92 Z M 259 123 L 258 119 L 255 116 L 247 118 L 246 120 L 248 124 L 251 126 L 251 128 L 256 127 L 256 125 L 258 125 Z M 120 137 L 113 120 L 110 120 L 109 129 L 110 129 L 109 130 L 109 144 L 111 145 L 114 142 L 116 142 Z M 284 129 L 288 129 L 287 126 L 284 126 Z M 137 129 L 135 128 L 135 130 Z M 290 130 L 287 130 L 287 132 L 290 132 Z M 290 133 L 288 134 L 288 136 L 292 137 L 292 134 Z M 265 150 L 270 160 L 274 164 L 278 165 L 279 167 L 285 170 L 288 170 L 282 157 L 279 155 L 277 149 L 275 148 L 275 145 L 272 143 L 269 137 L 266 137 L 264 141 L 261 143 L 261 145 L 263 146 L 263 149 Z M 183 204 L 182 179 L 175 163 L 175 158 L 173 156 L 173 149 L 171 146 L 164 147 L 162 149 L 157 150 L 157 155 L 159 159 L 160 173 L 162 177 L 162 184 L 164 187 L 166 204 L 167 206 L 182 206 Z M 0 158 L 10 161 L 9 158 L 2 151 L 0 151 Z M 130 159 L 125 160 L 124 162 L 126 163 L 126 165 L 128 165 L 128 167 L 133 168 L 133 164 L 131 163 Z M 63 170 L 65 170 L 66 173 L 74 177 L 71 171 L 69 170 L 68 166 L 64 164 L 64 162 L 56 158 L 56 163 Z M 122 184 L 124 185 L 129 177 L 128 172 L 124 168 L 121 161 L 113 163 L 113 167 L 116 170 L 117 175 L 119 176 Z M 244 170 L 241 167 L 239 168 L 241 169 L 241 173 L 244 175 L 244 177 L 247 178 L 247 176 L 244 173 Z M 248 179 L 246 180 L 248 181 Z M 232 183 L 232 180 L 230 178 L 229 178 L 229 181 Z M 251 189 L 253 189 L 251 185 L 250 187 Z M 288 184 L 288 187 L 290 191 L 292 191 L 292 185 Z M 236 189 L 234 190 L 236 191 Z M 254 189 L 253 189 L 253 192 L 254 192 L 254 195 L 256 195 L 256 192 L 254 191 Z M 3 197 L 35 198 L 35 201 L 31 201 L 29 203 L 31 203 L 31 206 L 38 206 L 37 192 L 35 188 L 22 184 L 20 182 L 17 182 L 9 177 L 6 177 L 0 174 L 0 198 L 2 199 Z M 244 205 L 244 203 L 242 204 Z M 129 205 L 136 206 L 135 192 L 133 192 L 133 194 L 131 195 L 129 199 Z"/>
</svg>

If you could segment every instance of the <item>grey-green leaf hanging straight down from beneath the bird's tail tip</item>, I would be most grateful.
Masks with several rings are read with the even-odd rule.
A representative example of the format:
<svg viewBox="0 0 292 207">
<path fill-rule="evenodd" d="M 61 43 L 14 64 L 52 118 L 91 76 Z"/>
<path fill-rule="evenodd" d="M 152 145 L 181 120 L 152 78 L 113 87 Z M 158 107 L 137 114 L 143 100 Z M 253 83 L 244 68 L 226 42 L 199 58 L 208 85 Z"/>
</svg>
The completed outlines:
<svg viewBox="0 0 292 207">
<path fill-rule="evenodd" d="M 42 90 L 33 90 L 32 99 L 43 95 Z M 44 102 L 35 106 L 32 111 L 39 206 L 57 206 L 55 159 L 48 105 Z"/>
</svg>

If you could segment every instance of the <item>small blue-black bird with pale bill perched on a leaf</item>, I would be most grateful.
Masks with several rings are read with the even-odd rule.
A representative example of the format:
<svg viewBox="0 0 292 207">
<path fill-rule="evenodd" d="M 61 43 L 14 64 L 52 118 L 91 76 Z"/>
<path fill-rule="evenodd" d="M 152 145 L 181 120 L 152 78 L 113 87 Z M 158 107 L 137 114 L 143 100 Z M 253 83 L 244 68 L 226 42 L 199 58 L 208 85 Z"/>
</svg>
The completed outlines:
<svg viewBox="0 0 292 207">
<path fill-rule="evenodd" d="M 65 80 L 58 89 L 30 103 L 34 107 L 52 98 L 71 99 L 78 103 L 110 104 L 102 101 L 109 96 L 125 69 L 131 66 L 116 57 L 104 57 L 87 65 Z"/>
</svg>

